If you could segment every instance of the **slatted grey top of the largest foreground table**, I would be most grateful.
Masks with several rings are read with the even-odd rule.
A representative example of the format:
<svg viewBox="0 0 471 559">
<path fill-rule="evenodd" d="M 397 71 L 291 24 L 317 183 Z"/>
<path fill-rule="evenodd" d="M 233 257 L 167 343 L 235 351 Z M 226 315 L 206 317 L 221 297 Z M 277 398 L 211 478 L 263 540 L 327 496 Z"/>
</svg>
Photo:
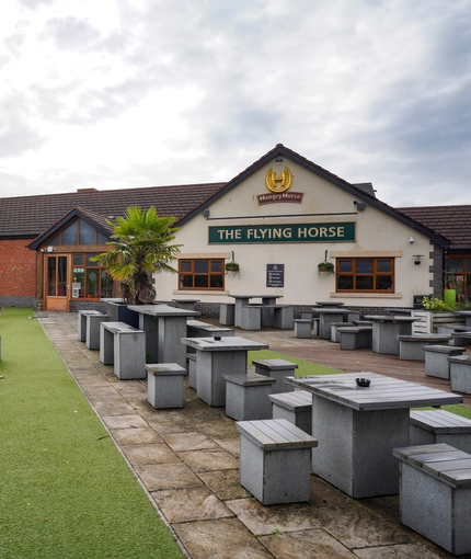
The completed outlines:
<svg viewBox="0 0 471 559">
<path fill-rule="evenodd" d="M 358 387 L 356 378 L 369 378 L 368 388 Z M 309 390 L 341 406 L 358 411 L 446 406 L 461 403 L 463 397 L 427 386 L 387 377 L 377 373 L 346 373 L 287 377 L 289 384 Z"/>
</svg>

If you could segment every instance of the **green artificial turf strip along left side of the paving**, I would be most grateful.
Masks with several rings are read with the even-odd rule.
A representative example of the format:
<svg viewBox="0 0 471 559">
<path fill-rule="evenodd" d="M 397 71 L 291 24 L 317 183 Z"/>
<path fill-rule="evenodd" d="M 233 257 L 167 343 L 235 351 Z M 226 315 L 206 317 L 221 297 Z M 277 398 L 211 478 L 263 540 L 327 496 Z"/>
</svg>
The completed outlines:
<svg viewBox="0 0 471 559">
<path fill-rule="evenodd" d="M 1 559 L 184 557 L 33 315 L 0 313 Z"/>
</svg>

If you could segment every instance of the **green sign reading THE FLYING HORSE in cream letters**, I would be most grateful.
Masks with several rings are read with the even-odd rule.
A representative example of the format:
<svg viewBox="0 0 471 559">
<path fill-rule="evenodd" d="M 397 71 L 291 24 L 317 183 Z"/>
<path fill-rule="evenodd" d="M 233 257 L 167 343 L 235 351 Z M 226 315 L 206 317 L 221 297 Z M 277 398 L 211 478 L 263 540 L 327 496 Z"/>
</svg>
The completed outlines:
<svg viewBox="0 0 471 559">
<path fill-rule="evenodd" d="M 209 227 L 209 243 L 355 241 L 355 223 Z"/>
</svg>

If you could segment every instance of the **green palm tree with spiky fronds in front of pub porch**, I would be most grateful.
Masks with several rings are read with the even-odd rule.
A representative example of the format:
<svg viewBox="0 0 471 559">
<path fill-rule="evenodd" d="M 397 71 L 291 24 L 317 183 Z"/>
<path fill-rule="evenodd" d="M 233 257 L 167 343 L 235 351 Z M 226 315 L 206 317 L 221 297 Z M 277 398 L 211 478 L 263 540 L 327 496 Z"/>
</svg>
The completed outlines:
<svg viewBox="0 0 471 559">
<path fill-rule="evenodd" d="M 179 230 L 172 227 L 175 218 L 158 216 L 153 206 L 143 210 L 139 206 L 130 206 L 124 217 L 106 221 L 113 227 L 113 240 L 106 243 L 111 250 L 92 260 L 107 266 L 110 275 L 120 282 L 125 303 L 153 303 L 157 294 L 150 274 L 176 273 L 170 264 L 176 259 L 181 247 L 171 244 Z"/>
</svg>

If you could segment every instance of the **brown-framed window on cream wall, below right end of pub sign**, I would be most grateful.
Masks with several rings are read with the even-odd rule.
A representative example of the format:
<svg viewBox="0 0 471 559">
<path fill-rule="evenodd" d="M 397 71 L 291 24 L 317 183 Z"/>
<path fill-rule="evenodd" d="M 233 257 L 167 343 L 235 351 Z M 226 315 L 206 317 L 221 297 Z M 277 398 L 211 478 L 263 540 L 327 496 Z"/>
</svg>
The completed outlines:
<svg viewBox="0 0 471 559">
<path fill-rule="evenodd" d="M 337 259 L 336 290 L 394 292 L 394 259 Z"/>
</svg>

